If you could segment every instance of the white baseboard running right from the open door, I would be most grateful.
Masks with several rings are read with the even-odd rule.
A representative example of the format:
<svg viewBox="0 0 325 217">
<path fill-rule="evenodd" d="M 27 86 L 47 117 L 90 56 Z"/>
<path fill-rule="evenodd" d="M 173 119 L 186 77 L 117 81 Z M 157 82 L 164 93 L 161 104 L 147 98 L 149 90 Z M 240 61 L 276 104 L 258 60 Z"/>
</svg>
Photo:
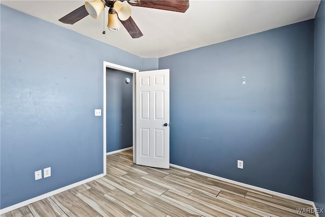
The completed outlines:
<svg viewBox="0 0 325 217">
<path fill-rule="evenodd" d="M 189 172 L 197 173 L 197 174 L 200 174 L 200 175 L 205 175 L 205 176 L 208 176 L 210 178 L 219 179 L 221 181 L 226 181 L 226 182 L 229 182 L 229 183 L 237 184 L 237 185 L 240 185 L 240 186 L 243 186 L 243 187 L 246 187 L 246 188 L 250 188 L 250 189 L 253 189 L 253 190 L 257 190 L 257 191 L 260 191 L 260 192 L 265 192 L 265 193 L 276 195 L 276 196 L 283 197 L 283 198 L 286 198 L 286 199 L 295 200 L 297 202 L 310 204 L 310 205 L 313 205 L 313 207 L 315 208 L 314 202 L 310 201 L 310 200 L 305 200 L 305 199 L 302 199 L 302 198 L 299 198 L 299 197 L 286 195 L 286 194 L 279 193 L 279 192 L 274 192 L 274 191 L 271 191 L 271 190 L 268 190 L 268 189 L 263 189 L 263 188 L 256 187 L 254 185 L 245 184 L 245 183 L 242 183 L 242 182 L 239 182 L 239 181 L 234 181 L 234 180 L 231 180 L 231 179 L 228 179 L 228 178 L 222 178 L 222 177 L 219 177 L 219 176 L 216 176 L 216 175 L 200 172 L 200 171 L 197 171 L 197 170 L 192 170 L 192 169 L 189 169 L 189 168 L 186 168 L 186 167 L 181 167 L 181 166 L 178 166 L 178 165 L 175 165 L 175 164 L 170 164 L 170 166 L 178 168 L 178 169 L 186 170 L 186 171 L 189 171 Z"/>
</svg>

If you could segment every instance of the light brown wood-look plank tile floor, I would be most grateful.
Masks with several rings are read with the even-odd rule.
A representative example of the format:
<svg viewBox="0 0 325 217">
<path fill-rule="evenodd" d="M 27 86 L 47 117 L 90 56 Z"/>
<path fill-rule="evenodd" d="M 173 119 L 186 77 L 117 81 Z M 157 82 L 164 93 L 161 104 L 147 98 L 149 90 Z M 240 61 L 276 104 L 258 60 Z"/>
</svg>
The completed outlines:
<svg viewBox="0 0 325 217">
<path fill-rule="evenodd" d="M 306 216 L 311 205 L 171 167 L 133 164 L 133 150 L 107 156 L 107 175 L 1 215 Z"/>
</svg>

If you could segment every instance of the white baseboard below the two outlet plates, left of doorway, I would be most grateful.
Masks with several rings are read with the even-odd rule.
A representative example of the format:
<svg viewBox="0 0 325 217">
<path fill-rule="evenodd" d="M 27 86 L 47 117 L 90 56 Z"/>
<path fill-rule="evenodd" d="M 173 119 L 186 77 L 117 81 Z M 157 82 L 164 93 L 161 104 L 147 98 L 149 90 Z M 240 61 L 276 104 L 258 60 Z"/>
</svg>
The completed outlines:
<svg viewBox="0 0 325 217">
<path fill-rule="evenodd" d="M 73 183 L 73 184 L 69 184 L 69 185 L 67 185 L 67 186 L 65 186 L 65 187 L 62 187 L 62 188 L 56 189 L 56 190 L 54 190 L 54 191 L 51 191 L 51 192 L 45 193 L 45 194 L 43 194 L 43 195 L 40 195 L 40 196 L 37 196 L 37 197 L 31 198 L 31 199 L 28 199 L 28 200 L 22 201 L 22 202 L 20 202 L 20 203 L 16 203 L 16 204 L 14 204 L 14 205 L 12 205 L 12 206 L 8 206 L 8 207 L 6 207 L 6 208 L 0 209 L 0 214 L 4 214 L 4 213 L 6 213 L 6 212 L 10 212 L 10 211 L 12 211 L 12 210 L 14 210 L 14 209 L 18 209 L 18 208 L 20 208 L 20 207 L 26 206 L 26 205 L 28 205 L 28 204 L 30 204 L 30 203 L 34 203 L 34 202 L 36 202 L 36 201 L 43 200 L 43 199 L 45 199 L 45 198 L 47 198 L 47 197 L 53 196 L 53 195 L 55 195 L 55 194 L 58 194 L 58 193 L 61 193 L 61 192 L 64 192 L 64 191 L 67 191 L 67 190 L 69 190 L 69 189 L 72 189 L 72 188 L 77 187 L 77 186 L 80 185 L 80 184 L 87 183 L 87 182 L 89 182 L 89 181 L 92 181 L 92 180 L 95 180 L 95 179 L 101 178 L 101 177 L 103 177 L 103 176 L 104 176 L 103 173 L 102 173 L 102 174 L 99 174 L 99 175 L 96 175 L 96 176 L 92 176 L 92 177 L 90 177 L 90 178 L 84 179 L 84 180 L 82 180 L 82 181 L 78 181 L 78 182 Z"/>
</svg>

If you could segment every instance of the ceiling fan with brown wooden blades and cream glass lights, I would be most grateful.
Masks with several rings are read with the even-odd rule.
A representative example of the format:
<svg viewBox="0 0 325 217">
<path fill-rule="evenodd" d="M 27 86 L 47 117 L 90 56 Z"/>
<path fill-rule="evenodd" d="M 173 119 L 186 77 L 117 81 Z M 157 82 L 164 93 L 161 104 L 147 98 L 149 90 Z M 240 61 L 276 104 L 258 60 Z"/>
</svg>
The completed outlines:
<svg viewBox="0 0 325 217">
<path fill-rule="evenodd" d="M 110 30 L 116 32 L 120 28 L 121 22 L 132 38 L 140 38 L 143 34 L 131 17 L 129 5 L 184 13 L 189 7 L 189 0 L 94 0 L 85 2 L 83 6 L 60 18 L 59 21 L 74 24 L 88 15 L 97 19 L 104 8 L 108 7 L 107 27 Z"/>
</svg>

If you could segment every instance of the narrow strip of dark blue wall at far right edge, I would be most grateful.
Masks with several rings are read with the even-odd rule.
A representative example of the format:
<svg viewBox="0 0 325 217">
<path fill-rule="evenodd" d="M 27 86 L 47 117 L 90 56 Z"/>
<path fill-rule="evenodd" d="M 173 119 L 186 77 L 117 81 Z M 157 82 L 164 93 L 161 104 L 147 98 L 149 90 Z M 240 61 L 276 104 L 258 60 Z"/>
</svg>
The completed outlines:
<svg viewBox="0 0 325 217">
<path fill-rule="evenodd" d="M 314 202 L 325 208 L 325 2 L 315 18 L 314 68 Z M 325 216 L 325 213 L 320 214 Z"/>
</svg>

